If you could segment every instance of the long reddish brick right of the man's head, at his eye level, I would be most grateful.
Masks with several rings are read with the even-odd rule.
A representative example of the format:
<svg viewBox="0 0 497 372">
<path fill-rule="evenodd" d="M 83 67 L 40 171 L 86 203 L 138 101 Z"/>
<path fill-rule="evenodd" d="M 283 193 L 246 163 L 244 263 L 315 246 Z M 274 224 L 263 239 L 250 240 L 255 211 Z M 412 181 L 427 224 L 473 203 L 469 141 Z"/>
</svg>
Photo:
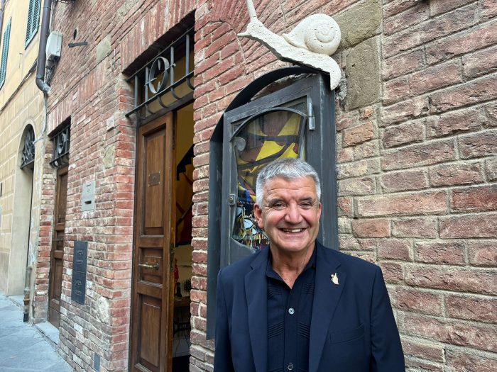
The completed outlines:
<svg viewBox="0 0 497 372">
<path fill-rule="evenodd" d="M 361 198 L 357 202 L 357 213 L 363 217 L 415 215 L 446 211 L 447 200 L 443 191 L 376 196 L 374 198 Z"/>
</svg>

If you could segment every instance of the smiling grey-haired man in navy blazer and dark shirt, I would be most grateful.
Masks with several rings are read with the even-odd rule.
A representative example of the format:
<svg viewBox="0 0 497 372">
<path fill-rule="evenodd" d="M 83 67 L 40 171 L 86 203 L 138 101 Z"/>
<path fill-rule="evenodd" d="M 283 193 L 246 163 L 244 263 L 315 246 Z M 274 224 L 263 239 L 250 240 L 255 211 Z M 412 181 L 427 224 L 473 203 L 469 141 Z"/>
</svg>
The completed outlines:
<svg viewBox="0 0 497 372">
<path fill-rule="evenodd" d="M 278 159 L 256 198 L 269 249 L 219 272 L 214 371 L 405 371 L 381 270 L 316 240 L 316 171 Z"/>
</svg>

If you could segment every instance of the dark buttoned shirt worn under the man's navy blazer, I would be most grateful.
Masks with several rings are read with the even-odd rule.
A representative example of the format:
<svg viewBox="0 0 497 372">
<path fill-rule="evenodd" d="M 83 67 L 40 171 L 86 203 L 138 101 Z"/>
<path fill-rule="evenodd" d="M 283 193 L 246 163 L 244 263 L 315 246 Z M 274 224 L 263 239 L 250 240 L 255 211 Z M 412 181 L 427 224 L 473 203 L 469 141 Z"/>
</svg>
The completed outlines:
<svg viewBox="0 0 497 372">
<path fill-rule="evenodd" d="M 273 270 L 271 256 L 268 278 L 268 371 L 309 370 L 309 338 L 316 249 L 290 289 Z"/>
</svg>

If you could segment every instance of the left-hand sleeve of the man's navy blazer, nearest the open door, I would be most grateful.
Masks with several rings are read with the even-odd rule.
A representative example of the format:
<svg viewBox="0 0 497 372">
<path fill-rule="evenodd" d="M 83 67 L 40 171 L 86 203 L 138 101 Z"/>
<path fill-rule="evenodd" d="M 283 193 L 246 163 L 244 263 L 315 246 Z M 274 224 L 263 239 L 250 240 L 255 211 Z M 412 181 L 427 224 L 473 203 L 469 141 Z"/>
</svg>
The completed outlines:
<svg viewBox="0 0 497 372">
<path fill-rule="evenodd" d="M 217 276 L 215 332 L 216 351 L 214 353 L 214 371 L 234 372 L 233 360 L 231 359 L 231 340 L 229 337 L 228 311 L 226 309 L 222 272 L 222 270 L 219 271 Z"/>
</svg>

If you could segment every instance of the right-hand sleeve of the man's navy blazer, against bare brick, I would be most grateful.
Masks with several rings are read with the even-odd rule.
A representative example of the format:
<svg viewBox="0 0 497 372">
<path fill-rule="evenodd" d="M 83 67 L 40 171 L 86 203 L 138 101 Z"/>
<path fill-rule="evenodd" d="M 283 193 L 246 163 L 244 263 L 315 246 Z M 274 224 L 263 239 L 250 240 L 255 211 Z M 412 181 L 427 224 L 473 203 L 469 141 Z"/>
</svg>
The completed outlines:
<svg viewBox="0 0 497 372">
<path fill-rule="evenodd" d="M 371 300 L 371 372 L 405 372 L 404 354 L 381 269 Z"/>
</svg>

